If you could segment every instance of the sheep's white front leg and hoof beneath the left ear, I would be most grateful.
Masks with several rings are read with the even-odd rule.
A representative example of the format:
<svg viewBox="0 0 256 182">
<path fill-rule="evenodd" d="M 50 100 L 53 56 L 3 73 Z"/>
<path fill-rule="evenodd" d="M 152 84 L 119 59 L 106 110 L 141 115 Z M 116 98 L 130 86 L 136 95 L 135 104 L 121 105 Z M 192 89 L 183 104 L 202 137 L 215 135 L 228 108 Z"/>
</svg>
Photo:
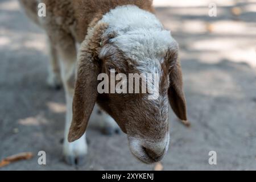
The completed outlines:
<svg viewBox="0 0 256 182">
<path fill-rule="evenodd" d="M 65 97 L 67 102 L 66 124 L 64 133 L 64 158 L 68 164 L 79 165 L 84 163 L 87 154 L 87 143 L 85 134 L 75 142 L 68 142 L 69 127 L 72 122 L 72 102 L 75 88 L 75 71 L 76 71 L 76 46 L 75 42 L 65 40 L 60 46 L 57 46 L 60 56 L 61 78 L 65 89 Z"/>
</svg>

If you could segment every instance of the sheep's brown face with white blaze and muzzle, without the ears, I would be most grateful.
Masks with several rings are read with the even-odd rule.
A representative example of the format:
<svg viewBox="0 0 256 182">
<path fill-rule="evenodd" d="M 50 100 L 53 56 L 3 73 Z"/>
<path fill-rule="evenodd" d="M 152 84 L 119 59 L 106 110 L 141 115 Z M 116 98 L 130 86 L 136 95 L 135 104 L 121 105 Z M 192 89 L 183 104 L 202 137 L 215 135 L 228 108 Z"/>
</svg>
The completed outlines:
<svg viewBox="0 0 256 182">
<path fill-rule="evenodd" d="M 105 93 L 101 90 L 98 104 L 127 134 L 130 150 L 138 159 L 158 162 L 166 154 L 170 138 L 168 89 L 177 47 L 144 61 L 125 55 L 111 45 L 101 50 L 101 72 L 108 81 L 102 79 L 104 75 L 100 77 L 105 85 L 100 84 L 98 89 L 104 88 Z"/>
</svg>

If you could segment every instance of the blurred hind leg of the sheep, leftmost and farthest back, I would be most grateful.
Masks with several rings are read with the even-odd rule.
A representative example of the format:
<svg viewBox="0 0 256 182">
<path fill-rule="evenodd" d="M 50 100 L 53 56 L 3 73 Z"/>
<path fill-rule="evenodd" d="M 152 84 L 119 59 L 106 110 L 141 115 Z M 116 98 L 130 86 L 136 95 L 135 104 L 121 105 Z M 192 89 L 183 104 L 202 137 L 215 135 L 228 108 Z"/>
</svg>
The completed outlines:
<svg viewBox="0 0 256 182">
<path fill-rule="evenodd" d="M 48 65 L 48 78 L 47 84 L 50 88 L 60 89 L 61 75 L 60 75 L 60 65 L 57 55 L 56 48 L 51 43 L 51 40 L 48 39 L 48 51 L 49 51 L 49 65 Z"/>
</svg>

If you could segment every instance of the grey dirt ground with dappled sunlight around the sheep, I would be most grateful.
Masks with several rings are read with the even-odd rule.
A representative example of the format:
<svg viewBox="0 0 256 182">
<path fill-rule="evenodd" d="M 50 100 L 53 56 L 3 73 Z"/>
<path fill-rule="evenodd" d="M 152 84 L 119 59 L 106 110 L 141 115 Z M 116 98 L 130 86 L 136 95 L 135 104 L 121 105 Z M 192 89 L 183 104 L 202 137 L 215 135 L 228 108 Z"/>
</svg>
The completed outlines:
<svg viewBox="0 0 256 182">
<path fill-rule="evenodd" d="M 176 2 L 176 3 L 175 3 Z M 256 2 L 159 1 L 156 12 L 180 44 L 190 129 L 170 109 L 170 150 L 165 170 L 256 170 Z M 232 8 L 237 5 L 240 9 Z M 241 11 L 241 12 L 240 12 Z M 235 15 L 236 14 L 236 15 Z M 47 47 L 42 30 L 0 0 L 0 159 L 46 151 L 47 165 L 32 160 L 0 170 L 152 170 L 131 155 L 125 134 L 88 130 L 88 161 L 79 168 L 61 157 L 64 92 L 47 88 Z M 217 165 L 209 165 L 209 151 Z"/>
</svg>

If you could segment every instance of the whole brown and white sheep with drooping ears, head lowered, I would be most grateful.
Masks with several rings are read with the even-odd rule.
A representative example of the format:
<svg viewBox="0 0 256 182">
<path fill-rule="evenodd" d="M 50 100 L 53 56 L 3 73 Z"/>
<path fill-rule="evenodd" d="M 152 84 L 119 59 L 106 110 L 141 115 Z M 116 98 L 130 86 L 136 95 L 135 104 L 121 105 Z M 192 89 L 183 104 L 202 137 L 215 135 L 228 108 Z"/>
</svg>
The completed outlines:
<svg viewBox="0 0 256 182">
<path fill-rule="evenodd" d="M 131 153 L 141 162 L 162 160 L 170 142 L 168 102 L 187 122 L 179 46 L 154 15 L 151 0 L 19 0 L 48 36 L 48 84 L 62 83 L 67 102 L 63 154 L 80 164 L 87 154 L 85 131 L 94 106 L 104 122 L 127 134 Z M 45 3 L 46 17 L 37 16 Z M 76 44 L 79 44 L 79 51 Z M 58 61 L 60 64 L 58 64 Z M 98 93 L 98 75 L 157 73 L 159 97 L 148 93 Z"/>
</svg>

